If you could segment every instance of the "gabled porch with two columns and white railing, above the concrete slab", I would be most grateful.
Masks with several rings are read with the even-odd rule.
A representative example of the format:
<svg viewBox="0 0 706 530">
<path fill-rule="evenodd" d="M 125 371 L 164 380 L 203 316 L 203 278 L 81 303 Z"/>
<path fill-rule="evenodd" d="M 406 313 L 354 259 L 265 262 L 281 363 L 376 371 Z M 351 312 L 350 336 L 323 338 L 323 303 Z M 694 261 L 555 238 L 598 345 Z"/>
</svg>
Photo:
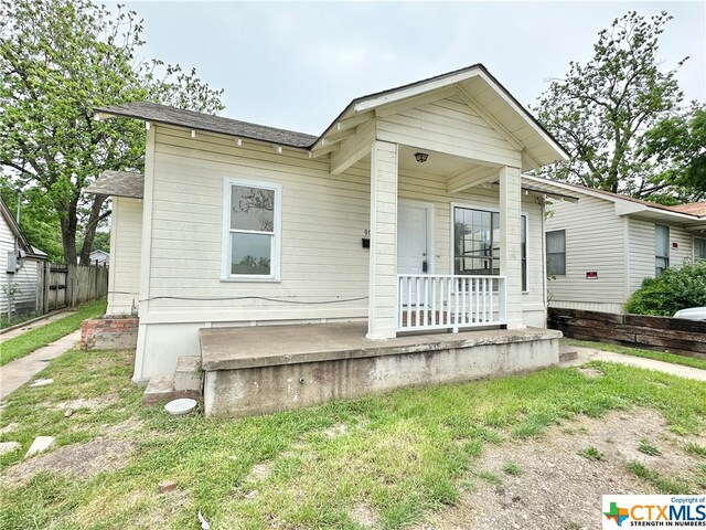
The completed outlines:
<svg viewBox="0 0 706 530">
<path fill-rule="evenodd" d="M 521 173 L 566 153 L 484 68 L 353 100 L 312 146 L 312 158 L 324 156 L 332 176 L 370 174 L 368 339 L 526 327 Z M 424 179 L 435 188 L 415 182 Z M 481 251 L 485 242 L 469 242 L 477 254 L 459 256 L 454 212 L 475 195 L 492 212 L 484 230 L 495 243 Z M 543 244 L 534 244 L 536 258 Z"/>
</svg>

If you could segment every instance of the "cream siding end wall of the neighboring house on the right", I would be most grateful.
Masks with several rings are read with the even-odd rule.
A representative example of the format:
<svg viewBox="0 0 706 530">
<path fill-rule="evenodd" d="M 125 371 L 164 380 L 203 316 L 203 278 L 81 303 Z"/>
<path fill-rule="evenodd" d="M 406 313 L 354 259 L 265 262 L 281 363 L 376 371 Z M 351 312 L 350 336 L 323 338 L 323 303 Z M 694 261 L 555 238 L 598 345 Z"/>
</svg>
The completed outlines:
<svg viewBox="0 0 706 530">
<path fill-rule="evenodd" d="M 548 210 L 546 231 L 566 231 L 566 275 L 549 278 L 549 306 L 623 304 L 624 222 L 616 215 L 613 204 L 581 195 L 578 203 L 558 202 Z M 587 272 L 597 272 L 598 279 L 586 279 Z"/>
</svg>

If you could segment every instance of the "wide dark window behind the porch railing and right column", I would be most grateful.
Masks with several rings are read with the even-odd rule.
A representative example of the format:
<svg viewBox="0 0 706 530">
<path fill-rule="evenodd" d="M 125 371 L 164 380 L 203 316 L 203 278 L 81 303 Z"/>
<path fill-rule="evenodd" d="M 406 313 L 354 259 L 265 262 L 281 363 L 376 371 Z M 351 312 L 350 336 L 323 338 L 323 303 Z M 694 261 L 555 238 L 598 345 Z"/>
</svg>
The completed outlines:
<svg viewBox="0 0 706 530">
<path fill-rule="evenodd" d="M 522 215 L 522 290 L 527 292 L 527 216 Z M 500 213 L 453 208 L 453 274 L 500 275 Z"/>
</svg>

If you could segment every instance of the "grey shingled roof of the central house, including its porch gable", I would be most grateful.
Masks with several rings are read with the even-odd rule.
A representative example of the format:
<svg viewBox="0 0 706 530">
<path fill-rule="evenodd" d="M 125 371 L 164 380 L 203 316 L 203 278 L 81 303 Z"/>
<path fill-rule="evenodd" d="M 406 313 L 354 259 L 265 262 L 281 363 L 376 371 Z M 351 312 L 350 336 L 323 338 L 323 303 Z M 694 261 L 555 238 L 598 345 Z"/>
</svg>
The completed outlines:
<svg viewBox="0 0 706 530">
<path fill-rule="evenodd" d="M 361 116 L 371 109 L 452 85 L 458 85 L 459 89 L 468 89 L 473 94 L 482 93 L 484 94 L 483 97 L 489 97 L 490 94 L 492 104 L 501 109 L 498 113 L 499 115 L 502 114 L 499 118 L 500 128 L 505 130 L 506 127 L 506 132 L 510 136 L 515 132 L 522 132 L 518 144 L 525 149 L 525 153 L 531 155 L 531 159 L 536 161 L 535 166 L 543 166 L 568 158 L 568 153 L 559 142 L 480 63 L 357 97 L 318 137 L 147 102 L 96 107 L 95 110 L 98 119 L 122 116 L 311 150 L 317 144 L 322 142 L 328 135 L 335 134 L 336 125 L 340 125 L 340 121 L 344 118 Z M 489 89 L 490 92 L 488 92 Z M 481 107 L 485 105 L 482 102 L 479 102 L 479 104 Z"/>
</svg>

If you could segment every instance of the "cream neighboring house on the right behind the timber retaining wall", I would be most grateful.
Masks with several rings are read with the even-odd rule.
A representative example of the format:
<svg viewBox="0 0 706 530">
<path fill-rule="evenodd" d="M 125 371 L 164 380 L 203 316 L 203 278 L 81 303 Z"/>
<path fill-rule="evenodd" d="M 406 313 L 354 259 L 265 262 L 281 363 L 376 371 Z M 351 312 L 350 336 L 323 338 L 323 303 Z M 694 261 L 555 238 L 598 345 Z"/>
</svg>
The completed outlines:
<svg viewBox="0 0 706 530">
<path fill-rule="evenodd" d="M 706 202 L 665 206 L 580 186 L 556 186 L 580 200 L 549 208 L 550 307 L 621 314 L 644 278 L 706 259 Z"/>
</svg>

